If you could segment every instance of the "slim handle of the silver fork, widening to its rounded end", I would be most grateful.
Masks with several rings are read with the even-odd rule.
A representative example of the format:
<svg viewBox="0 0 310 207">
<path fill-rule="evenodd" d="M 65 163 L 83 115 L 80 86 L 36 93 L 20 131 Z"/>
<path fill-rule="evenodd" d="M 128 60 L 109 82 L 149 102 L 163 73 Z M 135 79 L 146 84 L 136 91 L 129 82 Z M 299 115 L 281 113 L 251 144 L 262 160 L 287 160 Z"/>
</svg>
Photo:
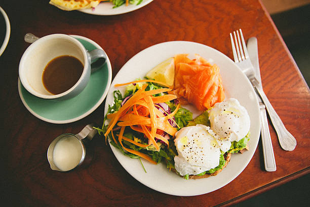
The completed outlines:
<svg viewBox="0 0 310 207">
<path fill-rule="evenodd" d="M 263 100 L 266 106 L 270 120 L 272 121 L 275 127 L 275 130 L 278 134 L 280 146 L 282 147 L 282 149 L 287 150 L 287 151 L 294 150 L 297 144 L 294 136 L 285 128 L 277 112 L 275 111 L 271 103 L 269 102 L 266 94 L 264 93 L 262 88 L 259 86 L 258 81 L 255 78 L 251 78 L 250 81 L 253 84 L 253 86 L 256 88 L 257 92 L 259 93 L 261 99 Z"/>
</svg>

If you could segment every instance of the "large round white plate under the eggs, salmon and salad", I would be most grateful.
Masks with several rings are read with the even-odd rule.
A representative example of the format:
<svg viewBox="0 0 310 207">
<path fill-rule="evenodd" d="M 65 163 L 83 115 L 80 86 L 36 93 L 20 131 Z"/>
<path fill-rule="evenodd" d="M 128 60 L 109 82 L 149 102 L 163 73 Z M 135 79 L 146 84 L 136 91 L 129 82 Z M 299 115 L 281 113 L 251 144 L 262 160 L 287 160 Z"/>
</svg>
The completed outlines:
<svg viewBox="0 0 310 207">
<path fill-rule="evenodd" d="M 221 52 L 199 43 L 173 41 L 151 46 L 132 57 L 115 76 L 106 97 L 105 113 L 108 104 L 111 105 L 113 102 L 113 91 L 117 89 L 120 89 L 121 92 L 124 91 L 125 87 L 115 88 L 115 84 L 143 78 L 151 68 L 180 53 L 188 53 L 190 58 L 194 54 L 199 54 L 220 67 L 226 97 L 237 98 L 250 115 L 251 137 L 248 143 L 250 150 L 243 154 L 233 154 L 227 167 L 217 176 L 198 180 L 185 180 L 175 173 L 169 172 L 163 163 L 153 165 L 142 159 L 147 171 L 145 173 L 137 159 L 124 156 L 113 146 L 111 146 L 111 149 L 125 170 L 145 186 L 166 194 L 192 196 L 212 192 L 234 180 L 248 165 L 258 144 L 260 135 L 258 101 L 251 83 L 235 62 Z M 197 115 L 196 112 L 195 114 Z"/>
</svg>

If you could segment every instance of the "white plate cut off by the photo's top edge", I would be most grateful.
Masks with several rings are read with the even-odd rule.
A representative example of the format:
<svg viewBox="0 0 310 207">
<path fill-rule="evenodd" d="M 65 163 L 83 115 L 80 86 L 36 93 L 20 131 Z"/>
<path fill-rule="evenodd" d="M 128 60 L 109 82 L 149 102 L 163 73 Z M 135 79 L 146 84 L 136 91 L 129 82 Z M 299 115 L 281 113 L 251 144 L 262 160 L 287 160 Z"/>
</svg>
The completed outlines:
<svg viewBox="0 0 310 207">
<path fill-rule="evenodd" d="M 101 2 L 95 9 L 80 9 L 79 11 L 94 15 L 117 15 L 140 9 L 152 1 L 153 0 L 143 0 L 139 5 L 129 4 L 126 6 L 123 4 L 117 8 L 113 8 L 114 5 L 110 2 Z"/>
</svg>

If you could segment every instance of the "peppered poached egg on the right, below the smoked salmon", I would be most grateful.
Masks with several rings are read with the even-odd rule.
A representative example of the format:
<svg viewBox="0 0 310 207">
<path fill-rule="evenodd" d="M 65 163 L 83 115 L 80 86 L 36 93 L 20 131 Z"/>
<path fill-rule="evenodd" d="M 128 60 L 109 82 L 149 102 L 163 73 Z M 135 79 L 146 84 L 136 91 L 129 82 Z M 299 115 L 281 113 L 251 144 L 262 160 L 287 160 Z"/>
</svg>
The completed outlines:
<svg viewBox="0 0 310 207">
<path fill-rule="evenodd" d="M 229 149 L 230 142 L 240 141 L 250 130 L 249 114 L 236 98 L 215 103 L 209 112 L 209 120 L 211 129 L 221 139 L 224 152 Z"/>
</svg>

